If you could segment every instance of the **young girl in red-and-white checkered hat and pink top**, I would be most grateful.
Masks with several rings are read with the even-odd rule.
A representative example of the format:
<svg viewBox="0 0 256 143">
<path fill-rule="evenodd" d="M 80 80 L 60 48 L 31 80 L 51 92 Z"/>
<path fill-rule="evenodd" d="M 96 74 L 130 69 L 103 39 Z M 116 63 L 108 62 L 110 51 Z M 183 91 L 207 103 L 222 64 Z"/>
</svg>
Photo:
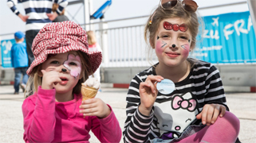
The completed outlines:
<svg viewBox="0 0 256 143">
<path fill-rule="evenodd" d="M 81 83 L 99 67 L 101 52 L 89 52 L 87 35 L 73 21 L 45 25 L 33 40 L 27 74 L 32 89 L 22 105 L 24 141 L 119 142 L 121 129 L 111 106 L 82 101 Z"/>
</svg>

